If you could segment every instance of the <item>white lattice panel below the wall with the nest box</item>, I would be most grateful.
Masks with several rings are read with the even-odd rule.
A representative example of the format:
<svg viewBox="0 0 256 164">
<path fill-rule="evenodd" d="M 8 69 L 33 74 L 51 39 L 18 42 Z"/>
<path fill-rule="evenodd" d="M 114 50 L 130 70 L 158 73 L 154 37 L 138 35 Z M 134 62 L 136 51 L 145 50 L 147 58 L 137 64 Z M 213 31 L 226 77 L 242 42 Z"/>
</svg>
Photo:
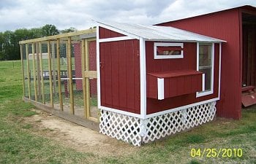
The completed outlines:
<svg viewBox="0 0 256 164">
<path fill-rule="evenodd" d="M 143 136 L 143 143 L 169 136 L 201 125 L 214 119 L 216 114 L 216 102 L 193 106 L 189 109 L 181 109 L 177 112 L 162 114 L 148 119 L 146 135 Z"/>
</svg>

